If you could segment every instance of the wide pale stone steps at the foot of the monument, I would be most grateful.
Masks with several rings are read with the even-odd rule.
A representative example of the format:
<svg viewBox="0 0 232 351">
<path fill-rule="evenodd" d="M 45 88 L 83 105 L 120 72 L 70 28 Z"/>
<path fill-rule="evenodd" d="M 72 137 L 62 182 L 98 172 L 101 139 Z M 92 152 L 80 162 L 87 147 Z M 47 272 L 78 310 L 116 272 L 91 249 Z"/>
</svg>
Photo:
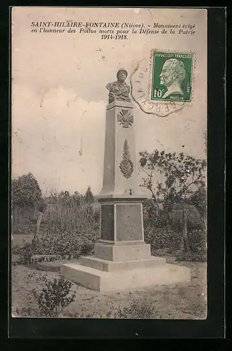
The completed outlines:
<svg viewBox="0 0 232 351">
<path fill-rule="evenodd" d="M 62 265 L 60 274 L 75 284 L 101 292 L 141 289 L 191 280 L 191 270 L 188 267 L 169 265 L 164 258 L 153 256 L 146 260 L 110 263 L 100 258 L 82 258 L 81 265 Z"/>
</svg>

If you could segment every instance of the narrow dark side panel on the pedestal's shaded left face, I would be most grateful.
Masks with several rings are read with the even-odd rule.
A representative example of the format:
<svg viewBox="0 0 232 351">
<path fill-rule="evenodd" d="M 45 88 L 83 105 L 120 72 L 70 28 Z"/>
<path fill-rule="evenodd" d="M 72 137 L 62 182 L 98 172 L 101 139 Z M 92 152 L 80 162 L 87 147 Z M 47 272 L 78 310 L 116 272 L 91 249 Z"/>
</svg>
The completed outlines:
<svg viewBox="0 0 232 351">
<path fill-rule="evenodd" d="M 114 240 L 114 205 L 101 205 L 101 239 Z"/>
</svg>

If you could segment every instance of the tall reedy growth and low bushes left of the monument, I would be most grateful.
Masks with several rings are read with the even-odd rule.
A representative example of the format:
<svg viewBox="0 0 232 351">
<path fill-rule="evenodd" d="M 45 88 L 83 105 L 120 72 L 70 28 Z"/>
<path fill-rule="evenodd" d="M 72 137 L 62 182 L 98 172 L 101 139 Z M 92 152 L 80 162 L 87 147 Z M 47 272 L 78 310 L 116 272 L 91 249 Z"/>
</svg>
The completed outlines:
<svg viewBox="0 0 232 351">
<path fill-rule="evenodd" d="M 95 199 L 90 187 L 86 194 L 75 192 L 51 192 L 49 198 L 35 201 L 37 219 L 27 218 L 24 224 L 31 223 L 30 229 L 34 233 L 31 244 L 22 248 L 13 248 L 14 253 L 20 255 L 20 262 L 29 263 L 32 255 L 69 255 L 78 258 L 93 253 L 94 243 L 99 237 L 100 211 L 93 206 Z M 18 203 L 18 201 L 16 201 Z M 34 211 L 31 211 L 34 216 Z M 38 220 L 39 218 L 39 220 Z M 13 219 L 13 232 L 17 232 L 17 218 Z"/>
</svg>

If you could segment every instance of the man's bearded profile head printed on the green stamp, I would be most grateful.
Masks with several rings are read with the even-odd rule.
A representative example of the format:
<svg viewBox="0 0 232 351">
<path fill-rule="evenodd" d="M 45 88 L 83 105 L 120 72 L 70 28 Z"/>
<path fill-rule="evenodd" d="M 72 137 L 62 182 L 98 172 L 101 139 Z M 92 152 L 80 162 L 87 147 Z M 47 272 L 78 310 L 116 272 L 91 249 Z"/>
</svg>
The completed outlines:
<svg viewBox="0 0 232 351">
<path fill-rule="evenodd" d="M 186 77 L 186 69 L 181 60 L 176 58 L 171 58 L 165 61 L 162 67 L 162 72 L 160 73 L 160 84 L 164 86 L 172 86 L 174 82 L 182 83 L 183 79 Z"/>
</svg>

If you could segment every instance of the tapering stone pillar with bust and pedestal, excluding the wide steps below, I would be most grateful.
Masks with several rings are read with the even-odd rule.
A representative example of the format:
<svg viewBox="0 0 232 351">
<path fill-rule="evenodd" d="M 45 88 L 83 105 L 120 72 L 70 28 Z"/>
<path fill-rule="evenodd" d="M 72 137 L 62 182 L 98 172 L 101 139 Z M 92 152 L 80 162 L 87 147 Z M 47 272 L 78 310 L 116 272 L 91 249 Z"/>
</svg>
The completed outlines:
<svg viewBox="0 0 232 351">
<path fill-rule="evenodd" d="M 148 258 L 149 245 L 143 238 L 142 202 L 145 197 L 138 186 L 134 110 L 127 71 L 117 72 L 117 81 L 109 83 L 106 107 L 105 157 L 101 204 L 101 240 L 96 256 L 124 261 Z"/>
</svg>

